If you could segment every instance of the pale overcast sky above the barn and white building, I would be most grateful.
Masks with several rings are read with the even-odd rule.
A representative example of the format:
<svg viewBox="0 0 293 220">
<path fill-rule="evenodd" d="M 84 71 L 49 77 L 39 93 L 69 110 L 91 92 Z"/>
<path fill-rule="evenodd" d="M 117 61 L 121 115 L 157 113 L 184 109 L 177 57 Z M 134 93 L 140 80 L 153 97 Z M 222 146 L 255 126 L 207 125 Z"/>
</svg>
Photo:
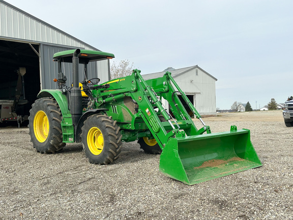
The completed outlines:
<svg viewBox="0 0 293 220">
<path fill-rule="evenodd" d="M 293 95 L 293 1 L 6 0 L 142 74 L 198 65 L 216 107 Z M 114 61 L 114 59 L 113 59 Z"/>
</svg>

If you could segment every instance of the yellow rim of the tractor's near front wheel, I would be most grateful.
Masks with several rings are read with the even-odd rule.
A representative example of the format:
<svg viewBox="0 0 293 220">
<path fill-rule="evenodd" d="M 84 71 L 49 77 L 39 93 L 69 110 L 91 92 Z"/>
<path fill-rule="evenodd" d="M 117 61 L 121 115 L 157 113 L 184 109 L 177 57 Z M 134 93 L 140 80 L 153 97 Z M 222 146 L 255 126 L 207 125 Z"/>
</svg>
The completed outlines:
<svg viewBox="0 0 293 220">
<path fill-rule="evenodd" d="M 101 130 L 97 127 L 92 127 L 87 133 L 87 146 L 94 155 L 102 153 L 104 148 L 104 137 Z"/>
</svg>

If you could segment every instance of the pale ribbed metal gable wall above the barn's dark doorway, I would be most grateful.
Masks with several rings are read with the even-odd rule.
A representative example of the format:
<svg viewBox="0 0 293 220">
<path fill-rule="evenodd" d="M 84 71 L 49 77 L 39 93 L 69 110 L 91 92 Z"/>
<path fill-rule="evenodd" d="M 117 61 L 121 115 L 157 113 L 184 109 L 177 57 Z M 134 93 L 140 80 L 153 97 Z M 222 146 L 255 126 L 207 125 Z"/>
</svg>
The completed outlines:
<svg viewBox="0 0 293 220">
<path fill-rule="evenodd" d="M 0 14 L 0 38 L 99 50 L 3 0 Z"/>
</svg>

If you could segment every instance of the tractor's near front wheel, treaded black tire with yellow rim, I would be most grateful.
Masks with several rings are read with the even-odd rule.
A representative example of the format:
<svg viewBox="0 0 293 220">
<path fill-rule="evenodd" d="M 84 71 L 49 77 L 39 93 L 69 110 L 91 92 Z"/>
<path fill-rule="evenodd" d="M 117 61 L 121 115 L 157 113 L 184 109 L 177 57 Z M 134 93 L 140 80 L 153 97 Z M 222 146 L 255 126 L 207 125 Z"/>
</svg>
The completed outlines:
<svg viewBox="0 0 293 220">
<path fill-rule="evenodd" d="M 81 140 L 91 163 L 108 164 L 118 159 L 121 139 L 120 127 L 112 117 L 92 115 L 84 121 Z"/>
</svg>

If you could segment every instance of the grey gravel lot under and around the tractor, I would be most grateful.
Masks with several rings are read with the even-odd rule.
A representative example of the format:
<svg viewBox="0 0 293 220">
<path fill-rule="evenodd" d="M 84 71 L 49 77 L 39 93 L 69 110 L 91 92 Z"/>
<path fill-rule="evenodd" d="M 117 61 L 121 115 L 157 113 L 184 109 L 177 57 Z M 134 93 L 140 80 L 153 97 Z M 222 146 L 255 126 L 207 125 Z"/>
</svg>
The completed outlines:
<svg viewBox="0 0 293 220">
<path fill-rule="evenodd" d="M 293 127 L 281 111 L 203 120 L 212 132 L 250 129 L 263 167 L 188 186 L 135 142 L 97 166 L 81 144 L 40 154 L 28 128 L 0 128 L 0 219 L 293 219 Z"/>
</svg>

